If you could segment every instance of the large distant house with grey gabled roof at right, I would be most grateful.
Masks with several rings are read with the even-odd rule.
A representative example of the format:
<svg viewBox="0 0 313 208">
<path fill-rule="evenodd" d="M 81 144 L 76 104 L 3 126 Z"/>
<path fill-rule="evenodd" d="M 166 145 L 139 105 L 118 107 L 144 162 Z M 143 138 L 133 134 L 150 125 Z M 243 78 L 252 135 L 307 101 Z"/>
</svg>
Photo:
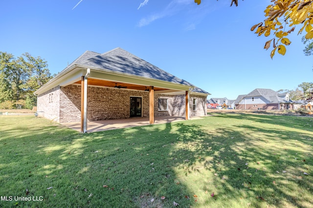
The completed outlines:
<svg viewBox="0 0 313 208">
<path fill-rule="evenodd" d="M 239 95 L 235 101 L 239 110 L 291 110 L 293 102 L 289 94 L 279 94 L 270 89 L 255 89 L 247 95 Z"/>
</svg>

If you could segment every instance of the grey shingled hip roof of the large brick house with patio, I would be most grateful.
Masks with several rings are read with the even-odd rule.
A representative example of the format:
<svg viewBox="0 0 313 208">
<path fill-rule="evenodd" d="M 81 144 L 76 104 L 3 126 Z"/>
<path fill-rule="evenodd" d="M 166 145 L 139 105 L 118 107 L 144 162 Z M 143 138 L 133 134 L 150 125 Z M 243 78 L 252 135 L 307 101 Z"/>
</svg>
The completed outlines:
<svg viewBox="0 0 313 208">
<path fill-rule="evenodd" d="M 136 57 L 121 48 L 115 48 L 103 54 L 86 51 L 70 65 L 68 65 L 67 68 L 65 68 L 62 72 L 68 71 L 75 65 L 79 65 L 81 67 L 85 66 L 87 68 L 95 68 L 99 71 L 103 70 L 106 72 L 109 71 L 112 73 L 140 76 L 148 79 L 156 79 L 175 84 L 187 85 L 193 88 L 193 92 L 210 95 L 208 92 L 196 87 L 195 85 L 173 76 L 170 73 L 165 72 L 155 65 L 139 57 Z"/>
</svg>

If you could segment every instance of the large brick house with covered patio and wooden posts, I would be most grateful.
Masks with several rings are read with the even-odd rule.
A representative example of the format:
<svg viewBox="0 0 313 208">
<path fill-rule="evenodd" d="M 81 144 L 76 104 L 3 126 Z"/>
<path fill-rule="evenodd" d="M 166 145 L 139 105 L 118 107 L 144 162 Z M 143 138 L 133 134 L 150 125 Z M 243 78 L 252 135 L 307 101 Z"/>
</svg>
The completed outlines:
<svg viewBox="0 0 313 208">
<path fill-rule="evenodd" d="M 206 115 L 210 95 L 121 48 L 86 51 L 35 94 L 38 113 L 82 132 L 87 120 Z"/>
</svg>

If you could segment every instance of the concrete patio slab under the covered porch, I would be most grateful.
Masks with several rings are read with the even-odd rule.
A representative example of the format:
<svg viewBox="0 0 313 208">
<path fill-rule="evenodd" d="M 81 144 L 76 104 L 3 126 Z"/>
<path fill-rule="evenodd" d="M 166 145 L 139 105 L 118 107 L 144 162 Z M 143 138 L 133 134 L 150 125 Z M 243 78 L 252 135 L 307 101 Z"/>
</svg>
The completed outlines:
<svg viewBox="0 0 313 208">
<path fill-rule="evenodd" d="M 201 117 L 191 117 L 190 119 L 200 119 Z M 155 118 L 155 124 L 164 124 L 177 121 L 184 121 L 185 117 L 180 116 L 162 116 Z M 63 126 L 80 132 L 80 122 L 62 123 Z M 112 119 L 88 121 L 87 132 L 101 132 L 113 129 L 123 129 L 136 126 L 150 125 L 149 118 L 127 118 L 127 119 Z"/>
</svg>

